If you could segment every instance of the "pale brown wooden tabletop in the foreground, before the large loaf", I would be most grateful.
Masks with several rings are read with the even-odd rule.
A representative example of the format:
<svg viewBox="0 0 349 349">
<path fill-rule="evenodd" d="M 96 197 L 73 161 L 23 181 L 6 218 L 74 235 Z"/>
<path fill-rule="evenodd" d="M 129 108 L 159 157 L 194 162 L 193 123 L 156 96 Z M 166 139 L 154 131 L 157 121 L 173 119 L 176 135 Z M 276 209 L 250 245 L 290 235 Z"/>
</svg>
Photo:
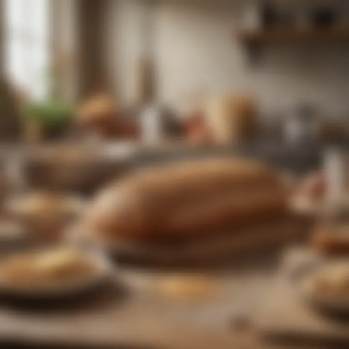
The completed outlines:
<svg viewBox="0 0 349 349">
<path fill-rule="evenodd" d="M 230 329 L 231 318 L 252 310 L 264 297 L 271 277 L 261 268 L 252 271 L 244 266 L 208 273 L 207 277 L 218 285 L 214 297 L 189 301 L 159 293 L 154 285 L 162 275 L 123 270 L 118 277 L 127 285 L 124 292 L 107 287 L 86 300 L 62 303 L 56 310 L 3 306 L 0 344 L 232 348 L 238 338 Z"/>
</svg>

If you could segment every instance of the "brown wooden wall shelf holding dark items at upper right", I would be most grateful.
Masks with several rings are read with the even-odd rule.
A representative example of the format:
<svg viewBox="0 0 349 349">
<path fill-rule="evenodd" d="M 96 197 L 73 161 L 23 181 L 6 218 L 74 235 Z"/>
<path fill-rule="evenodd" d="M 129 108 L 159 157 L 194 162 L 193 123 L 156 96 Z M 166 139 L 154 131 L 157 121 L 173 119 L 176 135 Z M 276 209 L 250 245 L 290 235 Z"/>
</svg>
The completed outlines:
<svg viewBox="0 0 349 349">
<path fill-rule="evenodd" d="M 349 42 L 349 26 L 331 29 L 270 29 L 240 31 L 238 38 L 247 45 Z"/>
</svg>

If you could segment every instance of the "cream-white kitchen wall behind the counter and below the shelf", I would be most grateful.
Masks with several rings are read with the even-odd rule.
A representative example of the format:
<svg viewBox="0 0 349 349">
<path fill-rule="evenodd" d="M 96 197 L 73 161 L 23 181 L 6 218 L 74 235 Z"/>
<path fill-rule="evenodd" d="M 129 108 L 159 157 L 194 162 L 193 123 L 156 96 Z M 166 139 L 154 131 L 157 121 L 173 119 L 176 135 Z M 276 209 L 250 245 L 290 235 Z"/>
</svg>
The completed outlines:
<svg viewBox="0 0 349 349">
<path fill-rule="evenodd" d="M 108 16 L 111 78 L 118 95 L 128 100 L 142 44 L 142 5 L 109 0 Z M 266 112 L 311 101 L 329 116 L 347 113 L 349 44 L 269 47 L 250 66 L 234 35 L 240 16 L 237 1 L 159 2 L 156 60 L 162 100 L 178 105 L 183 95 L 204 87 L 211 92 L 252 93 Z"/>
</svg>

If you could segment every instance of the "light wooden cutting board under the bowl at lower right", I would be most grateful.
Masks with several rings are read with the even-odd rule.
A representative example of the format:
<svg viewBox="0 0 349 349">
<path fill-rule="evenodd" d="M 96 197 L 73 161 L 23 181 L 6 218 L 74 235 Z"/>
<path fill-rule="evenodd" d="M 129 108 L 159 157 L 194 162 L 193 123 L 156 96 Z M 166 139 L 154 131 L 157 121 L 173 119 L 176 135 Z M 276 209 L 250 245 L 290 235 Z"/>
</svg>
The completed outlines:
<svg viewBox="0 0 349 349">
<path fill-rule="evenodd" d="M 308 248 L 287 251 L 281 263 L 280 274 L 270 288 L 269 297 L 255 314 L 254 326 L 259 334 L 287 343 L 346 343 L 349 346 L 349 321 L 334 320 L 318 313 L 298 299 L 287 286 L 289 270 L 321 258 Z"/>
</svg>

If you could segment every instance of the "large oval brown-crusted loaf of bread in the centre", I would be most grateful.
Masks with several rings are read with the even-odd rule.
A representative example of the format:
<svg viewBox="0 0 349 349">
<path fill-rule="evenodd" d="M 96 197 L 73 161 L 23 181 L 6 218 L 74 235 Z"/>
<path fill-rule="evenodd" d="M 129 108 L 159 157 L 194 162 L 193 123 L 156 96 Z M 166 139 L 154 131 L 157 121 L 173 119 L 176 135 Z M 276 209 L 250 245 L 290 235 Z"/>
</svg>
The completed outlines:
<svg viewBox="0 0 349 349">
<path fill-rule="evenodd" d="M 107 238 L 183 241 L 282 216 L 286 202 L 282 180 L 263 164 L 240 159 L 185 161 L 112 183 L 98 195 L 84 223 Z"/>
</svg>

